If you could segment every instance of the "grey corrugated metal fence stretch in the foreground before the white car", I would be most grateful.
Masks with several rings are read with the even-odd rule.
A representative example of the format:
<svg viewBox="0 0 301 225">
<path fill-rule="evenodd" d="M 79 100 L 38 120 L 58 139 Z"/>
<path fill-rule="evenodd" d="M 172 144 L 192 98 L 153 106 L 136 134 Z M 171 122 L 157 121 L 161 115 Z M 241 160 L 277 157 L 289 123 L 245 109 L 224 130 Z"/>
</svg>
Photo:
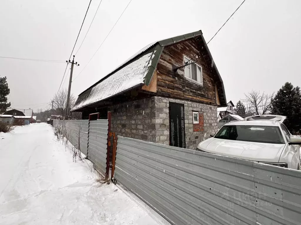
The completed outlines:
<svg viewBox="0 0 301 225">
<path fill-rule="evenodd" d="M 301 224 L 301 171 L 118 136 L 114 178 L 173 224 Z"/>
</svg>

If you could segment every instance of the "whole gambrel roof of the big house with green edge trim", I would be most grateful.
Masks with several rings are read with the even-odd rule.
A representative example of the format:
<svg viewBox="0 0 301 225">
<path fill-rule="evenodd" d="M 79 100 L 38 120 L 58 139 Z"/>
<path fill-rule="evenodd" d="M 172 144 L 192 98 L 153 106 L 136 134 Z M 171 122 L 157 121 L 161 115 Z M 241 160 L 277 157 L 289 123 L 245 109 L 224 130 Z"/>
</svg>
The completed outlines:
<svg viewBox="0 0 301 225">
<path fill-rule="evenodd" d="M 156 41 L 152 44 L 145 46 L 143 49 L 136 52 L 128 58 L 121 65 L 116 67 L 112 72 L 104 76 L 94 85 L 79 94 L 72 111 L 79 110 L 85 106 L 103 101 L 115 95 L 119 95 L 126 91 L 139 86 L 148 85 L 151 77 L 159 61 L 160 55 L 164 46 L 184 41 L 190 38 L 200 37 L 204 43 L 202 31 L 188 33 L 173 38 L 168 38 Z M 211 53 L 207 46 L 205 46 L 209 57 L 212 59 Z M 221 105 L 226 105 L 226 97 L 222 78 L 213 63 L 216 70 L 218 82 L 218 90 Z"/>
</svg>

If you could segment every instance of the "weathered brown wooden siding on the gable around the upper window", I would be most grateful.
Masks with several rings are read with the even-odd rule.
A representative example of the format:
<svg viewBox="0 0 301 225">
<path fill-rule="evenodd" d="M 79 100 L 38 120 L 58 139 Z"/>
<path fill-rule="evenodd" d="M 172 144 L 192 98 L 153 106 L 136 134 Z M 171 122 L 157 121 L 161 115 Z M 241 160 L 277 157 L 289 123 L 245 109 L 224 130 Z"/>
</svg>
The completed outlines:
<svg viewBox="0 0 301 225">
<path fill-rule="evenodd" d="M 204 58 L 199 56 L 197 59 L 197 64 L 202 67 L 203 85 L 185 78 L 184 68 L 178 69 L 176 73 L 172 71 L 172 65 L 183 65 L 183 55 L 192 58 L 200 50 L 198 45 L 195 39 L 190 39 L 164 47 L 157 64 L 158 96 L 216 105 L 213 69 Z"/>
</svg>

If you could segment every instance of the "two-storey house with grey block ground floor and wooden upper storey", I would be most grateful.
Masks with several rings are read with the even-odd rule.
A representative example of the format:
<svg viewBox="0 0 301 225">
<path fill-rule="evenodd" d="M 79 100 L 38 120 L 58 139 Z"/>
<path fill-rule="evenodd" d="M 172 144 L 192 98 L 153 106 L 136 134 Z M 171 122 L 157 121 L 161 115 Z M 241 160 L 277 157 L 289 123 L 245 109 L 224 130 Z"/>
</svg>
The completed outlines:
<svg viewBox="0 0 301 225">
<path fill-rule="evenodd" d="M 226 105 L 222 78 L 197 31 L 144 47 L 83 91 L 72 111 L 82 119 L 105 119 L 110 111 L 117 135 L 193 149 L 217 131 L 217 107 Z"/>
</svg>

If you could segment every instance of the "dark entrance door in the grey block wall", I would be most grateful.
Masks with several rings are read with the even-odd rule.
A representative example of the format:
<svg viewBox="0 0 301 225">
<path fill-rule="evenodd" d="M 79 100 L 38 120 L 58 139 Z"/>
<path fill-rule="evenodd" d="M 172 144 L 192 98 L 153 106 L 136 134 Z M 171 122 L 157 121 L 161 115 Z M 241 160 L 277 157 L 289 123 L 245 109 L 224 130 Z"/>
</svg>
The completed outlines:
<svg viewBox="0 0 301 225">
<path fill-rule="evenodd" d="M 184 105 L 169 102 L 169 145 L 185 148 Z"/>
</svg>

